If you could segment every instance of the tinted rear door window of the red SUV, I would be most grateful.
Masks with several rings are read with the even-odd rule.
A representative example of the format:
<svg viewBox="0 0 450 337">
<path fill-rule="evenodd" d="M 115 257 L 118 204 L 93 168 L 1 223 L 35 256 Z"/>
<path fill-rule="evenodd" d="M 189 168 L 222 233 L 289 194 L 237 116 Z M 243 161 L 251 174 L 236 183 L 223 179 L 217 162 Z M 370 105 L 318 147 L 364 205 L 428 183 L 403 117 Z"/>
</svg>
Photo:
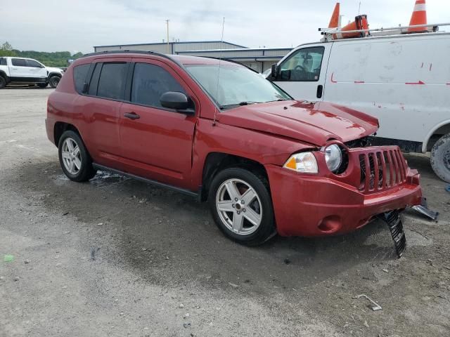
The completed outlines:
<svg viewBox="0 0 450 337">
<path fill-rule="evenodd" d="M 103 63 L 98 79 L 97 95 L 104 98 L 122 100 L 127 81 L 128 64 L 126 62 Z"/>
</svg>

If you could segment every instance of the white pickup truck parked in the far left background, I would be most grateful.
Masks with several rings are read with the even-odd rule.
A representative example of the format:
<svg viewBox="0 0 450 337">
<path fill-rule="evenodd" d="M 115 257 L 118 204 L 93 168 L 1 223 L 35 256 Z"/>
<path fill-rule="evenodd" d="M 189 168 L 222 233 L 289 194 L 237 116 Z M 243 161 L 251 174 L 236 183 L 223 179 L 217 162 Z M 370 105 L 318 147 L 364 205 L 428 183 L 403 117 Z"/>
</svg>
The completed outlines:
<svg viewBox="0 0 450 337">
<path fill-rule="evenodd" d="M 0 58 L 0 89 L 8 84 L 37 84 L 41 88 L 50 84 L 56 88 L 61 77 L 63 70 L 46 67 L 31 58 Z"/>
</svg>

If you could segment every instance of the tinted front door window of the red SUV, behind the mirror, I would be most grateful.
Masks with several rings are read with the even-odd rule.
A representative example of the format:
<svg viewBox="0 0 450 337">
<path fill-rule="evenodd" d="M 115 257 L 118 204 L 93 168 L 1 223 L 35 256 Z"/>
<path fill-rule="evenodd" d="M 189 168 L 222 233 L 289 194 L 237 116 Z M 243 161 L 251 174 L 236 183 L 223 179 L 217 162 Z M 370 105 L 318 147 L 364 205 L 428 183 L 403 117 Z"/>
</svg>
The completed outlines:
<svg viewBox="0 0 450 337">
<path fill-rule="evenodd" d="M 131 86 L 132 103 L 162 107 L 160 97 L 167 91 L 185 93 L 184 88 L 167 70 L 158 65 L 136 63 Z"/>
</svg>

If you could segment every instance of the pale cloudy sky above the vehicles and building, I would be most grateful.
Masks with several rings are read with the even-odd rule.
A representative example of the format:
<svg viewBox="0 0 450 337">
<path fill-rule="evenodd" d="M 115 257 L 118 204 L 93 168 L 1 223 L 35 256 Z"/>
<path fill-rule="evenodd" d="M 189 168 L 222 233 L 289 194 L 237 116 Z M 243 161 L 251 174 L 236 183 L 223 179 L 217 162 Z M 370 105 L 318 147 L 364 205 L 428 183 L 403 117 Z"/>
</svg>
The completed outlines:
<svg viewBox="0 0 450 337">
<path fill-rule="evenodd" d="M 368 15 L 371 28 L 408 25 L 415 0 L 342 0 L 342 23 Z M 319 41 L 330 0 L 2 0 L 0 44 L 34 51 L 89 53 L 93 46 L 142 44 L 169 38 L 221 39 L 250 48 L 291 47 Z M 428 0 L 428 23 L 450 22 L 449 0 Z M 446 30 L 450 30 L 447 27 Z"/>
</svg>

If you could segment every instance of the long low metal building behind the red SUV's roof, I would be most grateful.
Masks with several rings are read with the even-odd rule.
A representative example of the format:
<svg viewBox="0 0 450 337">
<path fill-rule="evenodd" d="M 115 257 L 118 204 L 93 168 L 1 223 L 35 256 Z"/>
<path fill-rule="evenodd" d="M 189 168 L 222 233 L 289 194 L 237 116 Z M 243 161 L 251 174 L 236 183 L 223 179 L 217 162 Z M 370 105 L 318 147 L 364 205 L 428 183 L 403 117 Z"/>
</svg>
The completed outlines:
<svg viewBox="0 0 450 337">
<path fill-rule="evenodd" d="M 264 72 L 273 63 L 289 53 L 292 48 L 247 48 L 226 41 L 183 41 L 156 44 L 121 44 L 115 46 L 94 46 L 94 51 L 156 51 L 158 53 L 210 56 L 241 62 L 258 72 Z"/>
</svg>

